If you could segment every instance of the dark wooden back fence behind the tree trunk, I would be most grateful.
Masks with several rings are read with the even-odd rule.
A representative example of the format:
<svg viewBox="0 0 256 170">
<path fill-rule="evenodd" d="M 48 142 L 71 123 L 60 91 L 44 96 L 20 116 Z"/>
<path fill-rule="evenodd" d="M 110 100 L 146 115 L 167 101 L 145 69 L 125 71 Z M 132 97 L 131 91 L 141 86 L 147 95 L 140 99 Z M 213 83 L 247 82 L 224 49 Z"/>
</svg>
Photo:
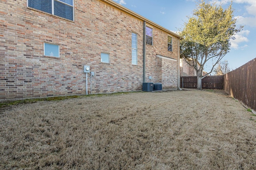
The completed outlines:
<svg viewBox="0 0 256 170">
<path fill-rule="evenodd" d="M 202 88 L 223 89 L 224 76 L 206 76 L 202 79 Z M 182 88 L 196 88 L 196 76 L 180 77 L 180 87 Z"/>
</svg>

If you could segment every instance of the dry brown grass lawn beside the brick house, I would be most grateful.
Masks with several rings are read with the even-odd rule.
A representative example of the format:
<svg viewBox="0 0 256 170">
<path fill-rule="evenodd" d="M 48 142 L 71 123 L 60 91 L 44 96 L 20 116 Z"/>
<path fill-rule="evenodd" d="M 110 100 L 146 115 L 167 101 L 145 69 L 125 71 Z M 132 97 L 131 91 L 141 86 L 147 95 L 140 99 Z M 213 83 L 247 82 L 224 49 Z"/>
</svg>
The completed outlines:
<svg viewBox="0 0 256 170">
<path fill-rule="evenodd" d="M 256 117 L 209 91 L 37 102 L 0 113 L 0 169 L 256 169 Z"/>
</svg>

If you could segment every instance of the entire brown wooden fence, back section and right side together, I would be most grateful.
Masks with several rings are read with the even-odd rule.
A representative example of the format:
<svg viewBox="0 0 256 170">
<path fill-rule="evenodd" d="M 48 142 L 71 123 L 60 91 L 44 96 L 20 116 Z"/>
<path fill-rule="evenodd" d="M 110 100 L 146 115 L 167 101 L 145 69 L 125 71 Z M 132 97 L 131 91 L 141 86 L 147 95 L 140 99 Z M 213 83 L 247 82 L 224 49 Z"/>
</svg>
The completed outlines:
<svg viewBox="0 0 256 170">
<path fill-rule="evenodd" d="M 180 87 L 196 88 L 196 76 L 180 77 Z M 224 76 L 206 76 L 202 88 L 224 89 L 256 112 L 256 58 Z"/>
</svg>

